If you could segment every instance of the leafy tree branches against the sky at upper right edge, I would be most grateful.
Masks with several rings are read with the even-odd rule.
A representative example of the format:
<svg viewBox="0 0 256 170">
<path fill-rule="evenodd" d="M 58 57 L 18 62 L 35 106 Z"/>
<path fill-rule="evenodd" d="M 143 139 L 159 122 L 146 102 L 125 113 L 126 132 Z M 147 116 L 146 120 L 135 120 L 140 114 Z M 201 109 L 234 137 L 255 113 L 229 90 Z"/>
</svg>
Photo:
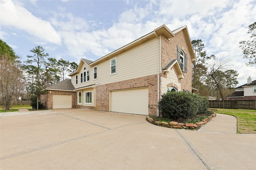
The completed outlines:
<svg viewBox="0 0 256 170">
<path fill-rule="evenodd" d="M 249 59 L 246 65 L 256 67 L 256 22 L 249 26 L 247 33 L 250 34 L 251 40 L 241 41 L 240 47 L 244 53 L 243 58 Z"/>
</svg>

